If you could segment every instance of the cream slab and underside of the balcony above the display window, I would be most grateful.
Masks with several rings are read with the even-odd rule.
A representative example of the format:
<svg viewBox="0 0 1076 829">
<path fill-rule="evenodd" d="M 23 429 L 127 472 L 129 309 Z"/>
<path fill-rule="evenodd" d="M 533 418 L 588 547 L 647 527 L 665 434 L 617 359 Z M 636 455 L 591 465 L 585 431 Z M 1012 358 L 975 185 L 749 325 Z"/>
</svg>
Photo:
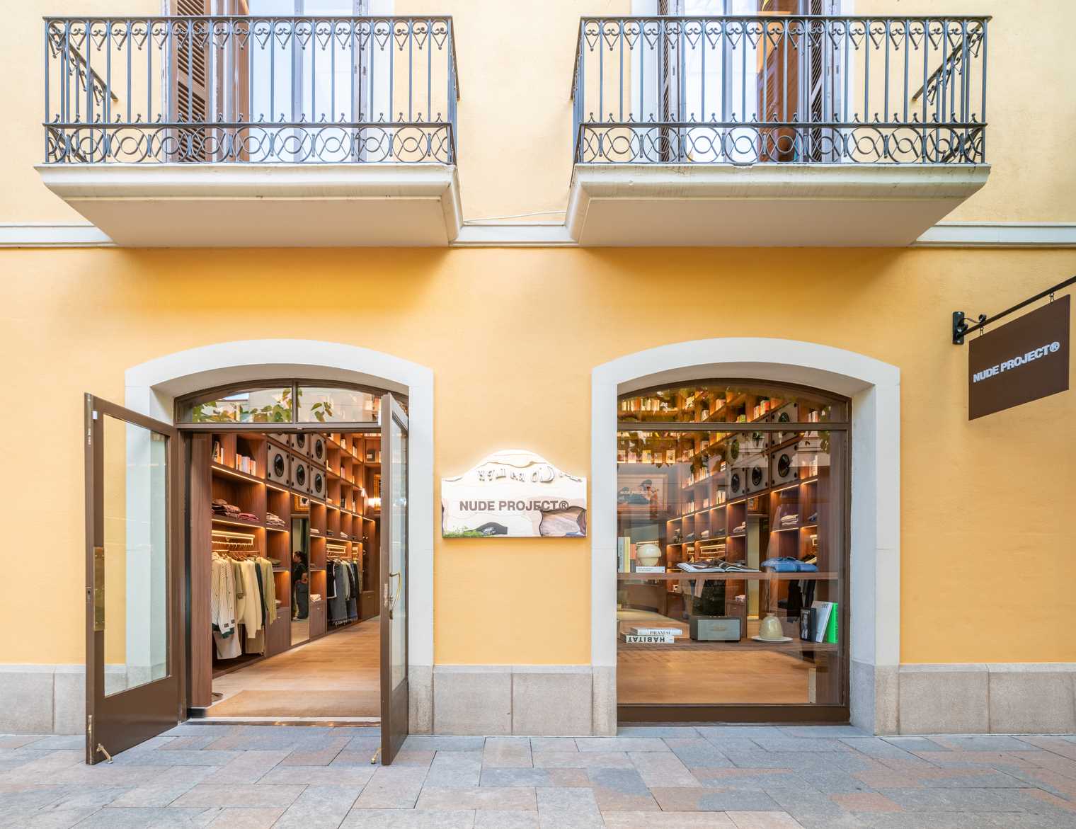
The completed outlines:
<svg viewBox="0 0 1076 829">
<path fill-rule="evenodd" d="M 593 247 L 903 247 L 989 172 L 986 164 L 577 164 L 567 225 Z"/>
</svg>

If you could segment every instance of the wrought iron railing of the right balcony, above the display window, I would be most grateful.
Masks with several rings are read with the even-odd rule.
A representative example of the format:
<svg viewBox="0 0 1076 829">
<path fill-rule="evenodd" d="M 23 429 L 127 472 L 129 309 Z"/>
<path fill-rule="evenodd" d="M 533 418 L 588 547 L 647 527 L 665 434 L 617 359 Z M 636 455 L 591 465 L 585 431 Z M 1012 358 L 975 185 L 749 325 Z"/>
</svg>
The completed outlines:
<svg viewBox="0 0 1076 829">
<path fill-rule="evenodd" d="M 986 159 L 989 17 L 584 17 L 586 164 Z"/>
</svg>

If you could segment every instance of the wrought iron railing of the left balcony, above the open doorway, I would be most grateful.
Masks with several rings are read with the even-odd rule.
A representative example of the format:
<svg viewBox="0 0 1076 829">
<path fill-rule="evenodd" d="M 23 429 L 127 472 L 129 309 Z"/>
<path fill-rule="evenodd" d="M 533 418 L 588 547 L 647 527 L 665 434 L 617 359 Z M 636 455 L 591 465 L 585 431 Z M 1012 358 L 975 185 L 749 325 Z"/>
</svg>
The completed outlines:
<svg viewBox="0 0 1076 829">
<path fill-rule="evenodd" d="M 455 163 L 451 17 L 45 18 L 45 160 Z"/>
</svg>

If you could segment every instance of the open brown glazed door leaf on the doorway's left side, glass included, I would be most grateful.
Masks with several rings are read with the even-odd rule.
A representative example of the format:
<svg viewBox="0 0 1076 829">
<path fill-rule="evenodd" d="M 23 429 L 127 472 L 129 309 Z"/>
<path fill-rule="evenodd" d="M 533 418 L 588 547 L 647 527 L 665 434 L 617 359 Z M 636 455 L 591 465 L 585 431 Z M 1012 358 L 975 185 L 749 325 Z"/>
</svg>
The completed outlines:
<svg viewBox="0 0 1076 829">
<path fill-rule="evenodd" d="M 184 718 L 179 433 L 91 394 L 86 447 L 86 762 Z"/>
</svg>

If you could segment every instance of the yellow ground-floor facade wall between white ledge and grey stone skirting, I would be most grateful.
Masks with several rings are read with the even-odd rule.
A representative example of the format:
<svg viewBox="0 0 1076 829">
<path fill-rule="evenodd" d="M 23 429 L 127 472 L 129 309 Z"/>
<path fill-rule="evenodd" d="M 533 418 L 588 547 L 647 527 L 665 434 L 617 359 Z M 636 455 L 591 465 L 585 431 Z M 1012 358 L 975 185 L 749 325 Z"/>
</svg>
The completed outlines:
<svg viewBox="0 0 1076 829">
<path fill-rule="evenodd" d="M 3 252 L 0 662 L 83 659 L 82 393 L 122 403 L 130 366 L 282 336 L 433 368 L 438 480 L 505 447 L 592 477 L 591 370 L 641 349 L 774 336 L 897 365 L 903 661 L 1076 660 L 1050 633 L 1076 581 L 1076 392 L 969 423 L 948 342 L 952 310 L 1074 269 L 1064 251 Z M 434 566 L 438 663 L 590 660 L 587 540 L 436 537 Z"/>
</svg>

